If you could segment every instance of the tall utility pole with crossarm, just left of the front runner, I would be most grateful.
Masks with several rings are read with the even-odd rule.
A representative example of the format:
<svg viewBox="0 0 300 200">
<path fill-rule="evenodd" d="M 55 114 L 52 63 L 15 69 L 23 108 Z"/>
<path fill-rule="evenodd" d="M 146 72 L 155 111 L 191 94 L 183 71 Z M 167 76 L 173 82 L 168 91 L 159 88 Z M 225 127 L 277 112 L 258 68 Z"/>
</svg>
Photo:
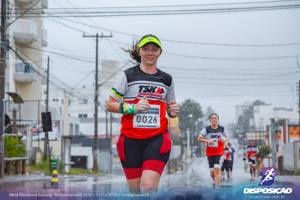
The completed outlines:
<svg viewBox="0 0 300 200">
<path fill-rule="evenodd" d="M 83 34 L 83 37 L 96 37 L 96 73 L 95 73 L 95 137 L 94 137 L 94 166 L 93 171 L 98 172 L 98 37 L 113 37 L 112 34 L 110 36 L 104 36 L 103 33 L 98 35 L 90 35 L 85 36 Z"/>
</svg>

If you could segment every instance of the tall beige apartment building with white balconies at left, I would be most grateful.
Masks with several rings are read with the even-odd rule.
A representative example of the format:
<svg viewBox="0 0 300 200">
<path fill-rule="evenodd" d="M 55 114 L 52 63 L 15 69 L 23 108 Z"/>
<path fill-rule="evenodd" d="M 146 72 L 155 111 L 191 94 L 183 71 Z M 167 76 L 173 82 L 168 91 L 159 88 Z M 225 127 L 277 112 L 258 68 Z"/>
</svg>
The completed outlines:
<svg viewBox="0 0 300 200">
<path fill-rule="evenodd" d="M 7 24 L 13 22 L 35 2 L 33 0 L 8 0 L 10 9 Z M 47 0 L 39 1 L 32 7 L 36 10 L 29 10 L 7 29 L 9 44 L 18 55 L 11 50 L 9 53 L 7 52 L 5 92 L 19 94 L 25 101 L 21 105 L 20 113 L 17 113 L 18 121 L 38 121 L 38 110 L 42 111 L 41 105 L 38 109 L 38 100 L 41 100 L 42 87 L 46 83 L 46 79 L 42 75 L 46 75 L 43 49 L 47 46 L 47 31 L 44 28 L 41 11 L 47 8 L 47 3 Z M 6 100 L 8 100 L 8 96 L 6 96 Z M 10 111 L 12 106 L 12 103 L 9 106 L 6 105 L 6 113 L 10 117 L 12 117 Z"/>
</svg>

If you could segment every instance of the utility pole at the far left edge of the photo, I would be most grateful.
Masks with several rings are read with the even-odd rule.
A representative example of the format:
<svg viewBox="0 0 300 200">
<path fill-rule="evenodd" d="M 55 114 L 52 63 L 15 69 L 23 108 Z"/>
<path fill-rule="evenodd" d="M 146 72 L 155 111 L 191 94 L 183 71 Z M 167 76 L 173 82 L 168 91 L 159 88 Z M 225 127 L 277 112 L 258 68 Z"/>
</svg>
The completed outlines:
<svg viewBox="0 0 300 200">
<path fill-rule="evenodd" d="M 4 90 L 6 68 L 6 1 L 1 0 L 1 45 L 0 45 L 0 178 L 4 177 Z"/>
</svg>

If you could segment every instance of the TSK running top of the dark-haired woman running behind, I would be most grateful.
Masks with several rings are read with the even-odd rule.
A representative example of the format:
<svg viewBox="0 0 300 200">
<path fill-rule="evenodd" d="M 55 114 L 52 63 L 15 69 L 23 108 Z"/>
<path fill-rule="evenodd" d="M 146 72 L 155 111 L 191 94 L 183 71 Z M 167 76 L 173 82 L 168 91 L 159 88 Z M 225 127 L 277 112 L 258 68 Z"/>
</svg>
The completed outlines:
<svg viewBox="0 0 300 200">
<path fill-rule="evenodd" d="M 214 141 L 213 144 L 207 144 L 206 156 L 224 155 L 224 146 L 221 140 L 228 136 L 225 127 L 218 125 L 217 129 L 213 129 L 211 126 L 207 126 L 200 131 L 199 136 Z"/>
</svg>

